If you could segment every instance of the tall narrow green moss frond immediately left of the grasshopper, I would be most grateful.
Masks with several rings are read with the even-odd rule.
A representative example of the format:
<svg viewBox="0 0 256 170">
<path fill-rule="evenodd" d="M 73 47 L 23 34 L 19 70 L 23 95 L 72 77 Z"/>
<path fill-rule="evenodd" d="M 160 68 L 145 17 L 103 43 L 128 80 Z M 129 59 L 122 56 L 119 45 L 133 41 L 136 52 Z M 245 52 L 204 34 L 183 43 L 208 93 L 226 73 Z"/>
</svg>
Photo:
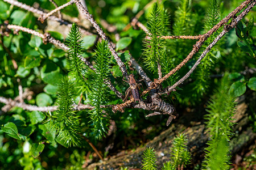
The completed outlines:
<svg viewBox="0 0 256 170">
<path fill-rule="evenodd" d="M 109 122 L 108 114 L 102 112 L 101 105 L 106 104 L 108 100 L 109 88 L 105 81 L 109 76 L 109 59 L 111 52 L 108 48 L 108 42 L 102 41 L 97 44 L 95 65 L 96 71 L 92 74 L 92 105 L 95 106 L 91 114 L 94 136 L 101 139 L 105 134 Z"/>
</svg>

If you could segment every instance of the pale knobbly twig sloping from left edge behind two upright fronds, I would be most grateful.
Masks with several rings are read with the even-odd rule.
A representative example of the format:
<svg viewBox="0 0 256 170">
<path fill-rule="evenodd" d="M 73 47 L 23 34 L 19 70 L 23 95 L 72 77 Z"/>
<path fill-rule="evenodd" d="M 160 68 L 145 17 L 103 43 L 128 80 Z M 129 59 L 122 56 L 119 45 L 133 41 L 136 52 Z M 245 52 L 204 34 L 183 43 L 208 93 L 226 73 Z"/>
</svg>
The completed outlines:
<svg viewBox="0 0 256 170">
<path fill-rule="evenodd" d="M 20 30 L 20 31 L 27 32 L 27 33 L 30 33 L 30 34 L 35 35 L 35 36 L 39 36 L 39 37 L 41 37 L 41 38 L 43 39 L 44 42 L 50 42 L 50 43 L 52 43 L 52 44 L 54 44 L 54 45 L 56 45 L 56 46 L 59 46 L 61 49 L 65 50 L 65 51 L 69 50 L 69 47 L 68 47 L 67 45 L 65 45 L 64 43 L 60 42 L 59 40 L 54 39 L 54 38 L 51 37 L 48 33 L 42 34 L 42 33 L 40 33 L 40 32 L 34 31 L 34 30 L 32 30 L 32 29 L 25 28 L 25 27 L 21 27 L 21 26 L 19 26 L 19 25 L 12 25 L 12 24 L 7 25 L 7 28 L 8 28 L 8 29 L 14 29 L 15 31 L 19 31 L 19 30 Z M 90 69 L 96 70 L 96 69 L 93 67 L 92 63 L 90 63 L 89 61 L 87 61 L 86 58 L 80 57 L 80 59 L 81 59 L 81 61 L 83 61 L 83 62 L 85 63 L 85 65 L 89 66 Z M 106 80 L 105 83 L 108 85 L 108 87 L 109 87 L 113 92 L 115 92 L 115 94 L 116 94 L 119 98 L 121 98 L 121 99 L 124 98 L 124 96 L 121 94 L 121 92 L 119 92 L 119 91 L 113 86 L 113 84 L 110 82 L 110 80 Z"/>
</svg>

